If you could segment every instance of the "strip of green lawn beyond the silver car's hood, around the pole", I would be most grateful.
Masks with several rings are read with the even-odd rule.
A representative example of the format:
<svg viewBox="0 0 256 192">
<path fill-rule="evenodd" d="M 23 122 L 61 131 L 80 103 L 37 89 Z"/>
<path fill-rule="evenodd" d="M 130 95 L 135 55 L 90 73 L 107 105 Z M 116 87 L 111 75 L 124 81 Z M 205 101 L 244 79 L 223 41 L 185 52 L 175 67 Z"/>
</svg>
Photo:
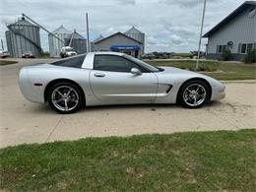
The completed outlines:
<svg viewBox="0 0 256 192">
<path fill-rule="evenodd" d="M 195 69 L 196 61 L 193 60 L 162 60 L 162 61 L 146 61 L 155 66 L 172 66 L 181 69 Z M 199 69 L 206 72 L 208 76 L 219 80 L 253 80 L 256 79 L 256 65 L 218 62 L 218 61 L 200 61 Z"/>
</svg>

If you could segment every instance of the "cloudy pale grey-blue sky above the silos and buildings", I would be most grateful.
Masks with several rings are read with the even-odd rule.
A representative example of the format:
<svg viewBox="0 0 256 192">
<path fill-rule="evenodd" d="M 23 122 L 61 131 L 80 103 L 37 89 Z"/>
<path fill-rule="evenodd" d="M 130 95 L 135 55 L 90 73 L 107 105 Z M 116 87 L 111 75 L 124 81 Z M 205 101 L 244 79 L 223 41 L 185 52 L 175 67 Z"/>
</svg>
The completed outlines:
<svg viewBox="0 0 256 192">
<path fill-rule="evenodd" d="M 204 31 L 208 32 L 243 0 L 207 0 Z M 59 26 L 90 39 L 100 34 L 126 32 L 136 27 L 146 33 L 146 52 L 197 50 L 203 0 L 0 0 L 0 39 L 6 48 L 6 25 L 25 13 L 50 32 Z M 47 33 L 40 30 L 41 46 L 48 50 Z M 202 42 L 205 50 L 207 39 Z"/>
</svg>

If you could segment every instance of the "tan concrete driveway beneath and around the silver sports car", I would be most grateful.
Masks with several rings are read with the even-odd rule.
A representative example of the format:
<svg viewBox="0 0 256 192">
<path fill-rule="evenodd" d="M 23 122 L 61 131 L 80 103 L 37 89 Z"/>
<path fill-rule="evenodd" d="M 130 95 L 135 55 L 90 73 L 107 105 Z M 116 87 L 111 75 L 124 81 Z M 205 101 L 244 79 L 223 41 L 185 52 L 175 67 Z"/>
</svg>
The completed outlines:
<svg viewBox="0 0 256 192">
<path fill-rule="evenodd" d="M 85 137 L 256 127 L 255 81 L 225 83 L 226 98 L 200 109 L 177 105 L 96 106 L 60 115 L 45 104 L 27 101 L 20 93 L 19 70 L 32 62 L 46 60 L 19 59 L 19 64 L 0 66 L 1 148 Z"/>
</svg>

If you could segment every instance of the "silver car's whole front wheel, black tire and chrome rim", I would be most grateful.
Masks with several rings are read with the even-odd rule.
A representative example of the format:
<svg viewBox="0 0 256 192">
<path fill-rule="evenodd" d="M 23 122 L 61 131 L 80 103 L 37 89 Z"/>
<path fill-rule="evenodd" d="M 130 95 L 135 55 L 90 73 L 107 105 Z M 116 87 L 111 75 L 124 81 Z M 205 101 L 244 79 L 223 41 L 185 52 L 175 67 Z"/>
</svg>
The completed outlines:
<svg viewBox="0 0 256 192">
<path fill-rule="evenodd" d="M 210 88 L 203 81 L 190 81 L 182 86 L 178 101 L 187 108 L 199 108 L 210 100 Z"/>
</svg>

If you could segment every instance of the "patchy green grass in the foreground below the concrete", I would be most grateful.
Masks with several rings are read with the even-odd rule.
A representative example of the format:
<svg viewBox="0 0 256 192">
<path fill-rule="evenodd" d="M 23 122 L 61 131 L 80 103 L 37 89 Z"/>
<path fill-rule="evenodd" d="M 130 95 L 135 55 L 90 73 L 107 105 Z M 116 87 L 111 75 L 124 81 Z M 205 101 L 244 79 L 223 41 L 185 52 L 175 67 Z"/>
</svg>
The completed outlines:
<svg viewBox="0 0 256 192">
<path fill-rule="evenodd" d="M 256 130 L 89 138 L 0 150 L 1 190 L 255 191 Z"/>
</svg>

